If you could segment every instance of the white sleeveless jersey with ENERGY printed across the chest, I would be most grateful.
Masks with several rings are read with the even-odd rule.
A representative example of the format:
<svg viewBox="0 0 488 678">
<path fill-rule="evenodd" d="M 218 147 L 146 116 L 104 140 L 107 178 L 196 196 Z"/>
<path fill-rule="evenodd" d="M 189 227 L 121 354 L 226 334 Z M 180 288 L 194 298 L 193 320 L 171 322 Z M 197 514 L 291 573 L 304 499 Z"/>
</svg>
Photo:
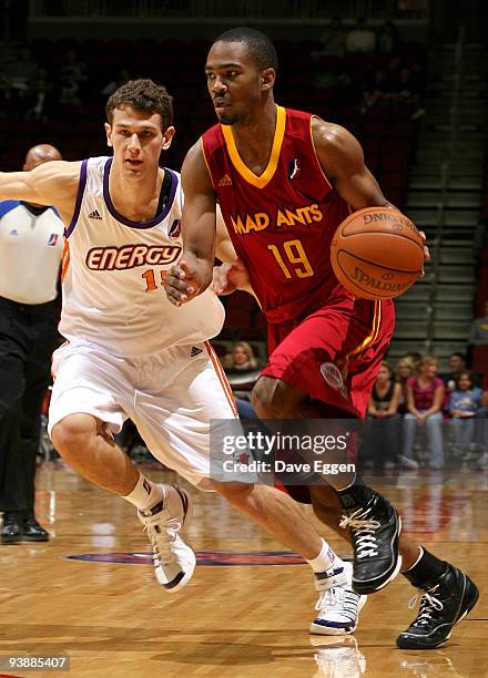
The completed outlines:
<svg viewBox="0 0 488 678">
<path fill-rule="evenodd" d="M 162 285 L 182 253 L 180 175 L 165 168 L 162 212 L 150 222 L 131 222 L 111 201 L 111 157 L 91 157 L 81 166 L 65 230 L 60 332 L 126 357 L 215 337 L 224 309 L 213 291 L 176 308 Z"/>
</svg>

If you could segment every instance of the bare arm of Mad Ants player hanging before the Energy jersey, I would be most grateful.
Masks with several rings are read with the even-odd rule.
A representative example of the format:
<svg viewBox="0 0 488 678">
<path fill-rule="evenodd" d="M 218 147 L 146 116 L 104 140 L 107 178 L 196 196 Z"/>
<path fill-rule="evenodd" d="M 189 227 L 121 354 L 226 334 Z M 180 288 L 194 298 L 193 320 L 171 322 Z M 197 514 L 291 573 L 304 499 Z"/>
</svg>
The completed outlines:
<svg viewBox="0 0 488 678">
<path fill-rule="evenodd" d="M 216 197 L 200 141 L 190 148 L 182 167 L 185 196 L 182 215 L 183 254 L 165 280 L 169 300 L 186 304 L 212 282 L 215 258 Z"/>
</svg>

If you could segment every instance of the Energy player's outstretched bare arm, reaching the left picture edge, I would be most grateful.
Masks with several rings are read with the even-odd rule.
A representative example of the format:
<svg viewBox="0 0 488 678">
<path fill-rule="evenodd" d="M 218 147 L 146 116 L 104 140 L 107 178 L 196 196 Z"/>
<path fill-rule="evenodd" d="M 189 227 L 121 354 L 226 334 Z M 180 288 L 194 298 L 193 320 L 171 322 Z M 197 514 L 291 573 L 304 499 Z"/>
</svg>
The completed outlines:
<svg viewBox="0 0 488 678">
<path fill-rule="evenodd" d="M 54 205 L 71 215 L 78 193 L 80 163 L 51 161 L 30 172 L 0 172 L 0 199 Z"/>
</svg>

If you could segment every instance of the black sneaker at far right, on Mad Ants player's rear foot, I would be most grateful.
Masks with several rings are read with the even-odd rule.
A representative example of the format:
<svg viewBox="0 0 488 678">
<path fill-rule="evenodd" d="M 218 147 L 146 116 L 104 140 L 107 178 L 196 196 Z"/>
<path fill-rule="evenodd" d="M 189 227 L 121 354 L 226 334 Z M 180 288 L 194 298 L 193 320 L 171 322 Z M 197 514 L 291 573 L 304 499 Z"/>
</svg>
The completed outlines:
<svg viewBox="0 0 488 678">
<path fill-rule="evenodd" d="M 446 643 L 479 597 L 471 579 L 449 564 L 439 582 L 424 590 L 417 617 L 397 638 L 401 649 L 433 649 Z"/>
</svg>

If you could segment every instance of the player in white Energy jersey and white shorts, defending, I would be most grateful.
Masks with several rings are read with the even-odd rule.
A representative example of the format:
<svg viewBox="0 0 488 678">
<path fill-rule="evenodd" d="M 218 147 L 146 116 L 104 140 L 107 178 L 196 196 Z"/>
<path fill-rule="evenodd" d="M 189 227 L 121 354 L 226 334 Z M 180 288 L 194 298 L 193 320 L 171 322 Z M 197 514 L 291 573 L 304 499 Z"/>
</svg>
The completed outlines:
<svg viewBox="0 0 488 678">
<path fill-rule="evenodd" d="M 67 342 L 53 356 L 52 441 L 81 475 L 138 507 L 167 590 L 186 585 L 195 566 L 184 541 L 191 497 L 145 479 L 114 444 L 128 417 L 156 459 L 201 490 L 217 491 L 308 561 L 321 592 L 315 633 L 352 633 L 365 602 L 350 589 L 352 565 L 297 504 L 274 487 L 210 479 L 210 420 L 236 414 L 207 341 L 222 328 L 221 302 L 206 290 L 176 311 L 162 287 L 182 250 L 180 176 L 159 167 L 174 134 L 172 99 L 150 80 L 131 81 L 109 99 L 106 114 L 113 158 L 0 174 L 0 199 L 54 204 L 65 224 Z M 226 258 L 218 248 L 217 255 Z"/>
</svg>

